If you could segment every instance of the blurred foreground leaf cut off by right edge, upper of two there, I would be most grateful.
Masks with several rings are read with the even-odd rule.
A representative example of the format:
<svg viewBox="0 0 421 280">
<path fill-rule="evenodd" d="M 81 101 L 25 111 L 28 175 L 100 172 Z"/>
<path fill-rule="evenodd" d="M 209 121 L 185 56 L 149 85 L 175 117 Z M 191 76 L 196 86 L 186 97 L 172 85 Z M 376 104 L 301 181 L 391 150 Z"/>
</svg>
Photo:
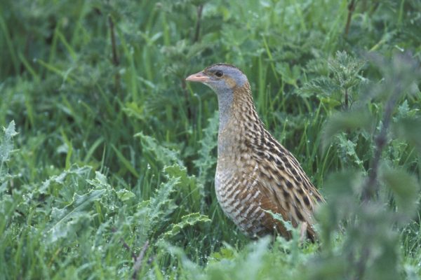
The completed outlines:
<svg viewBox="0 0 421 280">
<path fill-rule="evenodd" d="M 396 137 L 408 141 L 421 153 L 421 118 L 401 118 L 392 125 Z"/>
</svg>

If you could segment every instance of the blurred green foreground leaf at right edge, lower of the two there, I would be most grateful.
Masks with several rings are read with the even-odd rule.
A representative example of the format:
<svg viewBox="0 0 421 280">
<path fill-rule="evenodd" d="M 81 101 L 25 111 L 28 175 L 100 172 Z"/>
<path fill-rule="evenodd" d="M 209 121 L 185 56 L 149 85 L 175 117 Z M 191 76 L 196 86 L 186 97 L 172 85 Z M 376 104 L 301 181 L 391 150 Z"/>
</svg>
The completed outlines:
<svg viewBox="0 0 421 280">
<path fill-rule="evenodd" d="M 381 179 L 392 190 L 398 213 L 411 218 L 417 209 L 420 194 L 420 183 L 415 176 L 403 169 L 383 166 Z"/>
</svg>

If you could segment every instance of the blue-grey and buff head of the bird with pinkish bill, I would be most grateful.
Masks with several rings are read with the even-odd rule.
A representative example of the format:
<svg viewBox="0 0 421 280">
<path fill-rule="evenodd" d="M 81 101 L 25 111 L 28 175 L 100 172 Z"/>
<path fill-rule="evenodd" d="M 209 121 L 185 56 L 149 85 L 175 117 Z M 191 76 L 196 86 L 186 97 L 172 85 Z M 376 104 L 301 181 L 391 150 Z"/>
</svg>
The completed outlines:
<svg viewBox="0 0 421 280">
<path fill-rule="evenodd" d="M 200 82 L 208 85 L 218 95 L 232 92 L 235 87 L 243 87 L 248 84 L 246 75 L 240 69 L 231 64 L 213 64 L 199 73 L 186 78 L 191 82 Z"/>
</svg>

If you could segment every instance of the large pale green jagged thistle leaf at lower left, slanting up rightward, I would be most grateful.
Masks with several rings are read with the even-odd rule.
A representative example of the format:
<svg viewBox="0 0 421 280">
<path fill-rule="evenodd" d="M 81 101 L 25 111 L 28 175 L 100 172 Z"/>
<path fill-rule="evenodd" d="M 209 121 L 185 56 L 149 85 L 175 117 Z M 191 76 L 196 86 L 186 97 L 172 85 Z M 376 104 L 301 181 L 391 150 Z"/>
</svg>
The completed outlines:
<svg viewBox="0 0 421 280">
<path fill-rule="evenodd" d="M 73 201 L 64 208 L 54 207 L 51 211 L 51 227 L 48 230 L 48 242 L 74 236 L 80 225 L 91 221 L 93 214 L 89 210 L 93 202 L 101 199 L 106 190 L 91 190 L 84 195 L 74 194 Z"/>
</svg>

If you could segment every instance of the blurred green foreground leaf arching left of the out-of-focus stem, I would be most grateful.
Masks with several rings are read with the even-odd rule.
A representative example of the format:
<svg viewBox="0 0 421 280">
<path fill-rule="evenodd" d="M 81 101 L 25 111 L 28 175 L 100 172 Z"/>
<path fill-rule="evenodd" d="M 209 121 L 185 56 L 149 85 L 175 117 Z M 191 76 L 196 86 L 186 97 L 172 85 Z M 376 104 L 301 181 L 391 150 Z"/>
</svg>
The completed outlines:
<svg viewBox="0 0 421 280">
<path fill-rule="evenodd" d="M 323 149 L 328 146 L 333 135 L 345 130 L 370 130 L 373 127 L 373 117 L 365 110 L 335 113 L 326 121 L 323 127 Z"/>
</svg>

